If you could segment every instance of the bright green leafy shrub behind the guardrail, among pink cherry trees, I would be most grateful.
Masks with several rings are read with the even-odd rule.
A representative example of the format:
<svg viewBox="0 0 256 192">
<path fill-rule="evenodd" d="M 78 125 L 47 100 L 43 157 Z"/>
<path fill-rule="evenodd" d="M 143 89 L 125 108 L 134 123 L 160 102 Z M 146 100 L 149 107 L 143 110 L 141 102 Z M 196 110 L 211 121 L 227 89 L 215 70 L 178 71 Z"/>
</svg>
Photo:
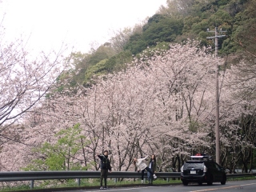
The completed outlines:
<svg viewBox="0 0 256 192">
<path fill-rule="evenodd" d="M 88 167 L 74 158 L 88 143 L 84 142 L 86 138 L 81 134 L 80 125 L 61 130 L 55 136 L 58 138 L 56 143 L 45 142 L 34 148 L 34 153 L 41 158 L 32 160 L 23 170 L 87 170 Z"/>
</svg>

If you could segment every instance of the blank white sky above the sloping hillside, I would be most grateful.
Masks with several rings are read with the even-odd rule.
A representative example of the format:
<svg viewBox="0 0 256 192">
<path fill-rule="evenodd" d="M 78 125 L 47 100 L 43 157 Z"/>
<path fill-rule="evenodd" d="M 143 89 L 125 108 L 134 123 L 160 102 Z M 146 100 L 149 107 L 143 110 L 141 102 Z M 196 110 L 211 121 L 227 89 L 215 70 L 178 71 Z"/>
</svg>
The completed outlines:
<svg viewBox="0 0 256 192">
<path fill-rule="evenodd" d="M 166 0 L 0 0 L 5 39 L 29 37 L 30 50 L 58 50 L 62 42 L 87 53 L 111 32 L 141 23 Z M 1 22 L 1 21 L 0 21 Z"/>
</svg>

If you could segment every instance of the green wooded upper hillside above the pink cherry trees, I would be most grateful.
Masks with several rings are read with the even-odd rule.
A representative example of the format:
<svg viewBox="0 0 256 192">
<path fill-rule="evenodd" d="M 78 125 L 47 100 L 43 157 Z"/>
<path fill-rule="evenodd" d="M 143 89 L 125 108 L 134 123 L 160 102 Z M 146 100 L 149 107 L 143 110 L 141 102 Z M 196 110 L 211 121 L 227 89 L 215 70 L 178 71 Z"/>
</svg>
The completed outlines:
<svg viewBox="0 0 256 192">
<path fill-rule="evenodd" d="M 226 38 L 218 42 L 219 56 L 238 62 L 242 56 L 255 57 L 256 2 L 254 0 L 169 0 L 167 6 L 146 23 L 134 29 L 118 31 L 116 36 L 92 50 L 90 54 L 75 53 L 72 73 L 74 82 L 88 86 L 94 74 L 101 75 L 120 71 L 146 49 L 168 49 L 170 42 L 184 42 L 187 38 L 198 39 L 202 46 L 213 46 L 206 37 L 214 34 L 207 29 L 226 30 Z M 235 56 L 235 57 L 234 57 Z M 237 60 L 234 60 L 237 59 Z"/>
</svg>

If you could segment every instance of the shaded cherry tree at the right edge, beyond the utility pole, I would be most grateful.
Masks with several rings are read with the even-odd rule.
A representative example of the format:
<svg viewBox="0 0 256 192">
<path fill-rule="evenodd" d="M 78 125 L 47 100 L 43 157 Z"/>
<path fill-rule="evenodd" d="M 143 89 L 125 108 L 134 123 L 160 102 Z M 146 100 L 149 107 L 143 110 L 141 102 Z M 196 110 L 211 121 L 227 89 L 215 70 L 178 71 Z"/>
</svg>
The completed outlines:
<svg viewBox="0 0 256 192">
<path fill-rule="evenodd" d="M 237 166 L 253 168 L 255 150 L 254 65 L 242 61 L 226 71 L 222 92 L 222 163 L 234 172 Z"/>
</svg>

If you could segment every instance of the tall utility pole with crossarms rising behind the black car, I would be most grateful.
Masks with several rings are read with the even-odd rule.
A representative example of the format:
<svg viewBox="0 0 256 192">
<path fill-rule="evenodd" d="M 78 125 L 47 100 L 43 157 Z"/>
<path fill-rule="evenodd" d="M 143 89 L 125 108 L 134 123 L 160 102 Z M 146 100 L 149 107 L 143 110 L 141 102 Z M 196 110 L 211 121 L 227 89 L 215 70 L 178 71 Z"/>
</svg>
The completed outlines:
<svg viewBox="0 0 256 192">
<path fill-rule="evenodd" d="M 215 39 L 215 58 L 218 56 L 218 38 L 223 38 L 226 35 L 222 35 L 222 28 L 219 31 L 221 35 L 218 35 L 218 27 L 215 27 L 215 30 L 207 29 L 207 32 L 215 33 L 213 37 L 207 37 L 210 39 Z M 216 93 L 215 93 L 215 102 L 216 102 L 216 117 L 215 117 L 215 152 L 216 152 L 216 162 L 220 163 L 220 142 L 219 142 L 219 96 L 218 96 L 218 62 L 216 62 L 215 69 L 215 78 L 216 78 Z"/>
</svg>

